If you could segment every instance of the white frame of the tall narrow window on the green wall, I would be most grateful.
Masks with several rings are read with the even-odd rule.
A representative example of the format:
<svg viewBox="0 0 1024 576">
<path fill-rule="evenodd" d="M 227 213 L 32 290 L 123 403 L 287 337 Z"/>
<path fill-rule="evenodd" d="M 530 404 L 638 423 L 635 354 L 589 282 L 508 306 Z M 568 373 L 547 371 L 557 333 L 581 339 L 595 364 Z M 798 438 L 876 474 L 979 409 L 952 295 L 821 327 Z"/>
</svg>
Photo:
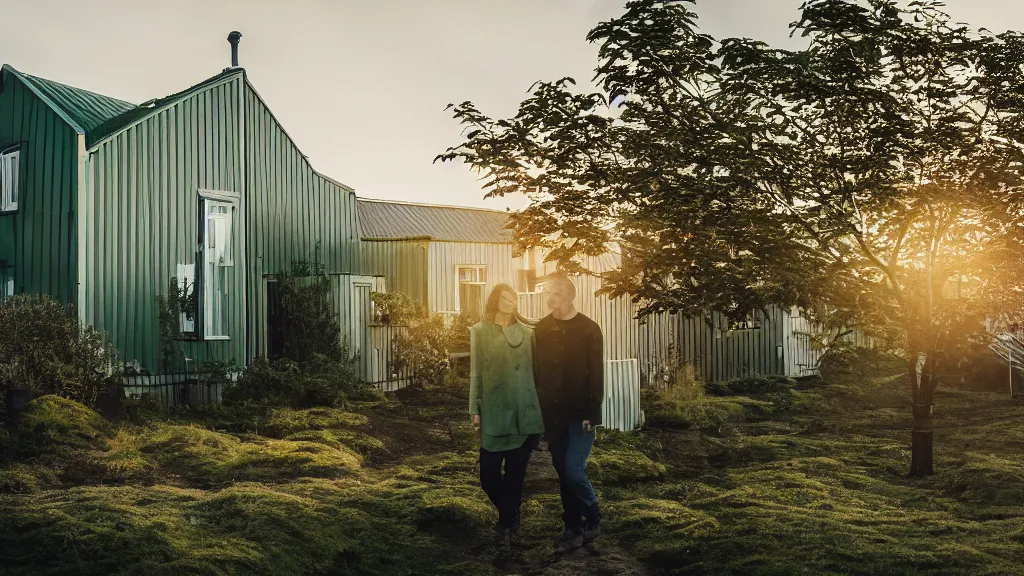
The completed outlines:
<svg viewBox="0 0 1024 576">
<path fill-rule="evenodd" d="M 230 319 L 230 305 L 224 305 L 222 303 L 220 308 L 220 314 L 222 315 L 219 319 L 213 317 L 215 307 L 215 299 L 217 297 L 217 289 L 215 282 L 218 280 L 217 275 L 221 275 L 219 280 L 223 282 L 225 288 L 230 287 L 233 283 L 233 275 L 228 274 L 227 270 L 234 266 L 234 253 L 239 250 L 240 243 L 238 239 L 242 237 L 239 232 L 240 227 L 240 197 L 237 193 L 220 192 L 220 191 L 205 191 L 201 190 L 199 193 L 200 201 L 202 203 L 202 215 L 203 220 L 200 223 L 203 229 L 203 250 L 202 258 L 200 259 L 198 265 L 203 266 L 203 283 L 200 292 L 200 298 L 202 298 L 202 331 L 204 340 L 230 340 L 231 337 L 228 332 L 228 321 Z M 211 218 L 211 209 L 225 209 L 226 214 L 229 216 L 229 221 L 227 224 L 228 235 L 227 235 L 227 250 L 225 253 L 220 254 L 217 260 L 214 261 L 211 258 L 215 257 L 213 253 L 209 250 L 211 247 L 211 239 L 214 239 L 214 246 L 216 246 L 216 227 L 211 227 L 211 223 L 215 221 L 218 216 Z M 224 238 L 220 237 L 223 241 Z M 236 298 L 243 298 L 243 295 L 231 296 L 230 293 L 225 290 L 225 297 L 228 301 L 234 301 Z M 219 320 L 219 322 L 215 322 Z M 220 325 L 224 327 L 223 333 L 217 333 L 214 331 L 214 327 Z"/>
</svg>

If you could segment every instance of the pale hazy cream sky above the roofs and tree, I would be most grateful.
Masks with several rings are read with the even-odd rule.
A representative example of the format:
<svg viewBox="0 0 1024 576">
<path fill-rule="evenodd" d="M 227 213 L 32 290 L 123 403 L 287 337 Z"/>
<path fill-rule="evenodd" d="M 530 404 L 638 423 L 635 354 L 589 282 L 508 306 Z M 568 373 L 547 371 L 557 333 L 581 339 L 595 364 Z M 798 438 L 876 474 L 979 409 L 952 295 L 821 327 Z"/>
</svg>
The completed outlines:
<svg viewBox="0 0 1024 576">
<path fill-rule="evenodd" d="M 698 26 L 721 37 L 798 47 L 801 0 L 698 0 Z M 587 33 L 625 0 L 0 0 L 0 61 L 132 102 L 177 92 L 240 65 L 323 174 L 367 198 L 504 209 L 463 164 L 434 164 L 458 145 L 444 108 L 473 100 L 515 114 L 539 80 L 589 87 Z M 1020 0 L 947 0 L 955 19 L 1024 30 Z"/>
</svg>

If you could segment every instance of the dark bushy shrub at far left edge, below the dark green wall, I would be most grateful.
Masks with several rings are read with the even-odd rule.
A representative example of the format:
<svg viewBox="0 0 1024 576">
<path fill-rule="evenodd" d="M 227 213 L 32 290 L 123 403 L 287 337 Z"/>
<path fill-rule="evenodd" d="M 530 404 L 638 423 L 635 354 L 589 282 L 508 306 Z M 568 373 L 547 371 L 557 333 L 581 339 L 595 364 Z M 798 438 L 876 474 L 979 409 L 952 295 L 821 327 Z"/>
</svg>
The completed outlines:
<svg viewBox="0 0 1024 576">
<path fill-rule="evenodd" d="M 74 308 L 48 296 L 20 294 L 0 302 L 0 388 L 26 387 L 95 406 L 117 390 L 116 353 L 83 326 Z"/>
</svg>

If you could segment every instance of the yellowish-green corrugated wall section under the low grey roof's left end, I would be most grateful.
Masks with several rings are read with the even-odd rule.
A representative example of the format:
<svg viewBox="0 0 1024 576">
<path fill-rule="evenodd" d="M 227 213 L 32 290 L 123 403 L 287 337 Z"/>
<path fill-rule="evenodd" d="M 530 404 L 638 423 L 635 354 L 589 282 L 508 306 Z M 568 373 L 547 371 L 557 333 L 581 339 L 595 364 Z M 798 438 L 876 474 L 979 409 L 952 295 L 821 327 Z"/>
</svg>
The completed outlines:
<svg viewBox="0 0 1024 576">
<path fill-rule="evenodd" d="M 364 242 L 362 274 L 383 276 L 389 291 L 426 303 L 427 242 Z"/>
</svg>

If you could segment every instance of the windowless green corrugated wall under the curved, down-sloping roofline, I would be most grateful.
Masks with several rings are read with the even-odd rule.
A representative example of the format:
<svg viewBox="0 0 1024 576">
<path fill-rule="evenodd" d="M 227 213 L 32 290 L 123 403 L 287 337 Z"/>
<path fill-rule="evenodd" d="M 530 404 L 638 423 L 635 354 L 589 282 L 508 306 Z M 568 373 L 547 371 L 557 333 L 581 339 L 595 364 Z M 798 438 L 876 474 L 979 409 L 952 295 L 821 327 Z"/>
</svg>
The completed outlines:
<svg viewBox="0 0 1024 576">
<path fill-rule="evenodd" d="M 361 272 L 355 194 L 325 178 L 303 157 L 249 87 L 246 93 L 246 187 L 250 198 L 249 285 L 296 260 L 328 274 Z M 266 349 L 266 291 L 250 294 L 250 354 Z"/>
</svg>

